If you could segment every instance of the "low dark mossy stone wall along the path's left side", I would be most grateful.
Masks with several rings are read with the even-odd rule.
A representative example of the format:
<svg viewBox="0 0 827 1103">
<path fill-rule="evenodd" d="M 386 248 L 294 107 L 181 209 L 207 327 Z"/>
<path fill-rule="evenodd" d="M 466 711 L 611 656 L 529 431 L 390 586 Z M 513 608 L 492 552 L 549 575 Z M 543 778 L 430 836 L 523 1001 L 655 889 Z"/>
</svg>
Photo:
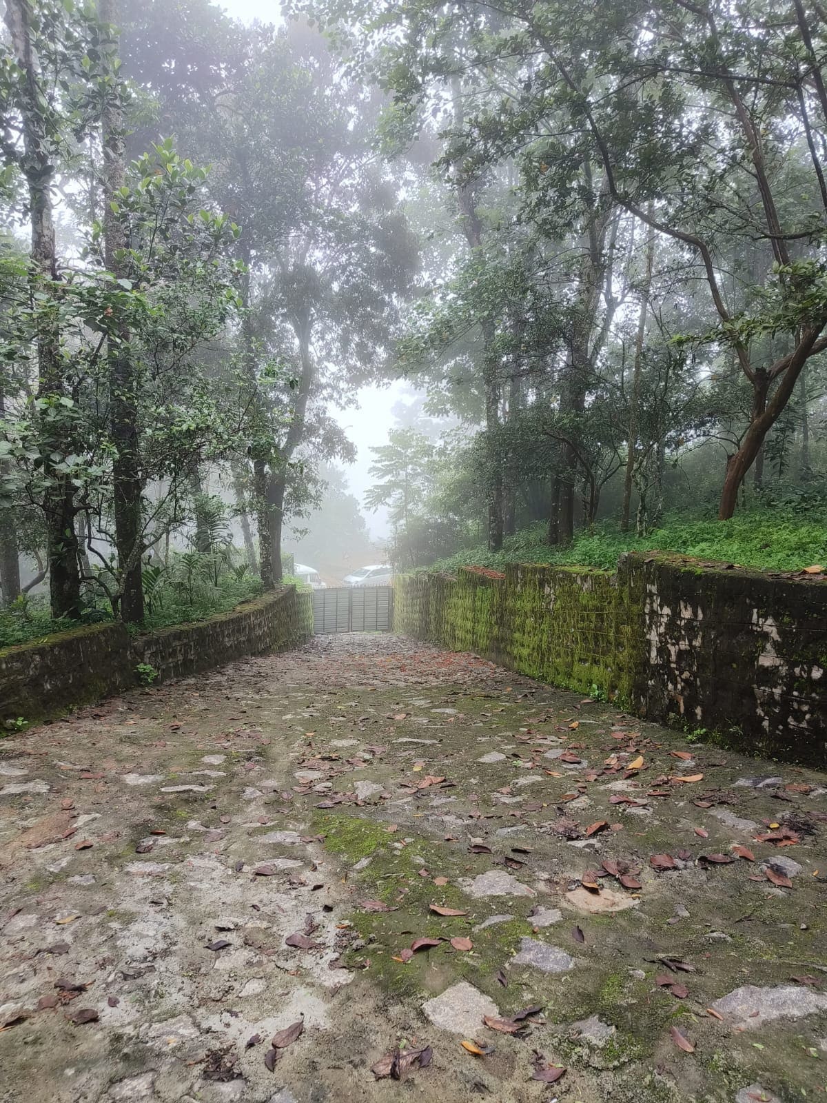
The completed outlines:
<svg viewBox="0 0 827 1103">
<path fill-rule="evenodd" d="M 313 634 L 313 598 L 284 586 L 227 613 L 130 640 L 122 624 L 93 624 L 0 649 L 0 721 L 42 720 L 135 685 L 138 664 L 168 681 Z"/>
</svg>

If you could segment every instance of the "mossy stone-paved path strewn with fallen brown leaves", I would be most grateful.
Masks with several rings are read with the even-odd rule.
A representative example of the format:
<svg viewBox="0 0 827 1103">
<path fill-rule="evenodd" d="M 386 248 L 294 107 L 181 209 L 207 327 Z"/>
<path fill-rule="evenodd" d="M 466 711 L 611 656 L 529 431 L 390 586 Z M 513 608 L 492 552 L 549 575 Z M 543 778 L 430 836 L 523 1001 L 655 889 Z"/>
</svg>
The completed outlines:
<svg viewBox="0 0 827 1103">
<path fill-rule="evenodd" d="M 382 635 L 9 736 L 0 1100 L 821 1099 L 826 786 Z"/>
</svg>

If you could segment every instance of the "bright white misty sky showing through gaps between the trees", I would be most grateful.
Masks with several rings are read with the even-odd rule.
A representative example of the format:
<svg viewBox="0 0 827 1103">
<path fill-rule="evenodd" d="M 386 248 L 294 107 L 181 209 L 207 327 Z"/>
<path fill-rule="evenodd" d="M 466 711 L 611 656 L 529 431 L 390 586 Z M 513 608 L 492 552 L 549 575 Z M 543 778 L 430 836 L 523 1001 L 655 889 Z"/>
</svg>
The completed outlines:
<svg viewBox="0 0 827 1103">
<path fill-rule="evenodd" d="M 255 19 L 268 23 L 281 21 L 281 4 L 275 0 L 219 0 L 218 7 L 234 19 L 241 19 L 245 22 Z M 358 392 L 358 409 L 334 410 L 336 420 L 347 430 L 347 436 L 358 449 L 356 462 L 347 464 L 345 470 L 351 490 L 359 501 L 370 483 L 367 474 L 370 465 L 370 446 L 387 442 L 388 428 L 394 420 L 390 408 L 406 393 L 409 393 L 409 388 L 404 384 L 393 384 L 390 387 L 363 387 Z M 387 516 L 384 511 L 374 514 L 363 508 L 363 513 L 372 536 L 384 538 L 388 535 Z"/>
</svg>

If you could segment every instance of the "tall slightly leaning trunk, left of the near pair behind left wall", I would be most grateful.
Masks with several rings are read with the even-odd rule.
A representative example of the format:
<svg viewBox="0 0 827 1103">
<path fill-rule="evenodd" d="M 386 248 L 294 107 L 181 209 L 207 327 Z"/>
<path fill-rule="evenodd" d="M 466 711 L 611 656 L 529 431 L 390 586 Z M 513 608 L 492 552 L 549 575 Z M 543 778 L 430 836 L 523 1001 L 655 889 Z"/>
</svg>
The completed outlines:
<svg viewBox="0 0 827 1103">
<path fill-rule="evenodd" d="M 20 114 L 23 124 L 24 157 L 21 169 L 29 189 L 29 210 L 32 226 L 32 266 L 30 287 L 32 296 L 54 298 L 57 265 L 52 217 L 52 184 L 55 169 L 51 159 L 53 146 L 52 122 L 47 118 L 47 98 L 40 87 L 36 52 L 32 41 L 32 11 L 28 0 L 8 0 L 6 25 L 9 29 L 15 61 L 23 79 L 20 85 Z M 42 473 L 46 483 L 43 512 L 46 525 L 49 580 L 54 618 L 80 615 L 80 572 L 77 565 L 77 537 L 75 535 L 74 488 L 66 475 L 55 470 L 52 459 L 60 460 L 72 453 L 71 428 L 67 418 L 58 415 L 52 419 L 61 397 L 65 397 L 61 372 L 60 331 L 54 314 L 41 309 L 37 346 L 37 396 L 47 404 L 46 416 L 40 422 L 40 449 L 43 458 Z M 60 462 L 60 460 L 57 462 Z"/>
</svg>

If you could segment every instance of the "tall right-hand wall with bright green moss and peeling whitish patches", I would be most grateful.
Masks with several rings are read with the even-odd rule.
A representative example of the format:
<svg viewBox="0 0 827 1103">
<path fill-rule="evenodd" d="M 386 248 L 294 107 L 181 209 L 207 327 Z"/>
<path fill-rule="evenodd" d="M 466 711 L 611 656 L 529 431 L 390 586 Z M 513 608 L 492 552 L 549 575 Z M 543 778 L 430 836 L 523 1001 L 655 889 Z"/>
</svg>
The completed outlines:
<svg viewBox="0 0 827 1103">
<path fill-rule="evenodd" d="M 745 749 L 827 764 L 827 586 L 624 556 L 398 578 L 394 629 Z"/>
</svg>

